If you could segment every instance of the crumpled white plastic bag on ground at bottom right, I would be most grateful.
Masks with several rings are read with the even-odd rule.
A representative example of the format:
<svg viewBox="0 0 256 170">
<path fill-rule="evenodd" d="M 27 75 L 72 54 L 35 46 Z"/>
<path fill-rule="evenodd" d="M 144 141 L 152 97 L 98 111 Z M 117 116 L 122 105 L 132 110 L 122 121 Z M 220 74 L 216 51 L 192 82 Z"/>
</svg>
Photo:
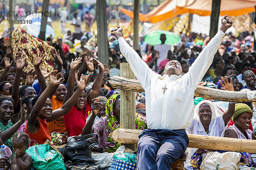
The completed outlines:
<svg viewBox="0 0 256 170">
<path fill-rule="evenodd" d="M 201 170 L 238 170 L 239 152 L 210 152 L 201 164 Z"/>
</svg>

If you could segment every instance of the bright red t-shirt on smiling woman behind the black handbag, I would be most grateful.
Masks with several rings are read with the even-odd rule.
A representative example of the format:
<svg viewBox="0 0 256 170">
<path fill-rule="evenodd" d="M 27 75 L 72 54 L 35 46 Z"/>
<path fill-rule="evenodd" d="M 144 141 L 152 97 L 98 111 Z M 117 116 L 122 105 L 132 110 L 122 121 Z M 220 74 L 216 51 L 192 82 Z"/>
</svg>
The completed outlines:
<svg viewBox="0 0 256 170">
<path fill-rule="evenodd" d="M 86 118 L 90 115 L 92 109 L 90 102 L 86 102 L 84 109 L 78 110 L 76 106 L 64 115 L 67 136 L 79 136 L 86 123 Z M 84 113 L 85 112 L 85 113 Z"/>
</svg>

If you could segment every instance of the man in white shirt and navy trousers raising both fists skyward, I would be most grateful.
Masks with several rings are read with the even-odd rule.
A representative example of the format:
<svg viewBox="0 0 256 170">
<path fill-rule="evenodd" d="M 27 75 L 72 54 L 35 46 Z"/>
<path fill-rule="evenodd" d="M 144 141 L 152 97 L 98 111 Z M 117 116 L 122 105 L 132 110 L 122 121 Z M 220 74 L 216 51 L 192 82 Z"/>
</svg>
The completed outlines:
<svg viewBox="0 0 256 170">
<path fill-rule="evenodd" d="M 122 37 L 122 28 L 112 29 L 122 55 L 145 90 L 148 129 L 139 135 L 137 170 L 170 170 L 189 144 L 185 128 L 193 119 L 195 89 L 204 77 L 218 46 L 232 21 L 227 15 L 221 28 L 199 54 L 189 71 L 182 75 L 178 61 L 165 65 L 163 76 L 154 73 Z"/>
</svg>

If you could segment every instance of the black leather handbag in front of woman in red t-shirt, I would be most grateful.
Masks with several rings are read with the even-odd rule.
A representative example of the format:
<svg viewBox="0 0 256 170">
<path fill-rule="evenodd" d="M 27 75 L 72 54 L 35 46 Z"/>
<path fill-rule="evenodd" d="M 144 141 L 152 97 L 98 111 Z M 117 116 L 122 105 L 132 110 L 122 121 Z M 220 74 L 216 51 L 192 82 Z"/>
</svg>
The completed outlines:
<svg viewBox="0 0 256 170">
<path fill-rule="evenodd" d="M 96 136 L 96 137 L 93 137 Z M 64 162 L 84 163 L 94 165 L 91 149 L 99 143 L 98 136 L 94 133 L 85 136 L 70 136 L 67 144 L 59 151 L 64 156 Z"/>
</svg>

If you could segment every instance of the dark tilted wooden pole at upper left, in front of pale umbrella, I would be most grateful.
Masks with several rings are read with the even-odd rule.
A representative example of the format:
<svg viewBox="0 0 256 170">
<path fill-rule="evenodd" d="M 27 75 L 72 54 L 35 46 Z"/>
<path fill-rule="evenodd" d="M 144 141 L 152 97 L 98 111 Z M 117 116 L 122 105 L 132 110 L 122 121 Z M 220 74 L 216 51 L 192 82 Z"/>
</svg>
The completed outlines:
<svg viewBox="0 0 256 170">
<path fill-rule="evenodd" d="M 40 34 L 38 35 L 38 38 L 45 41 L 45 32 L 46 32 L 46 25 L 47 25 L 47 18 L 49 16 L 49 0 L 43 1 L 43 7 L 42 7 L 42 19 L 41 19 L 41 27 L 40 27 Z"/>
</svg>

